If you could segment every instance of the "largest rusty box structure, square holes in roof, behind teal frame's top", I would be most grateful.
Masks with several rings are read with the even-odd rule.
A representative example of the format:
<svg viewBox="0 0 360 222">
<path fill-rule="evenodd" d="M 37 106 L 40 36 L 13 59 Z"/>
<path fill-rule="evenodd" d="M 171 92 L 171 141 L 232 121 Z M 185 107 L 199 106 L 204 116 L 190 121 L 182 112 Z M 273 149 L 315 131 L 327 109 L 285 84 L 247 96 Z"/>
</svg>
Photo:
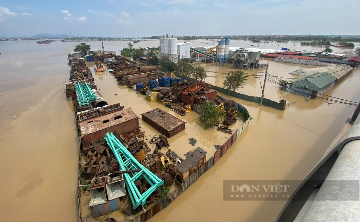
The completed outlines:
<svg viewBox="0 0 360 222">
<path fill-rule="evenodd" d="M 81 143 L 83 147 L 92 145 L 93 140 L 105 137 L 105 133 L 114 132 L 121 135 L 139 128 L 139 117 L 131 108 L 101 115 L 79 123 Z"/>
</svg>

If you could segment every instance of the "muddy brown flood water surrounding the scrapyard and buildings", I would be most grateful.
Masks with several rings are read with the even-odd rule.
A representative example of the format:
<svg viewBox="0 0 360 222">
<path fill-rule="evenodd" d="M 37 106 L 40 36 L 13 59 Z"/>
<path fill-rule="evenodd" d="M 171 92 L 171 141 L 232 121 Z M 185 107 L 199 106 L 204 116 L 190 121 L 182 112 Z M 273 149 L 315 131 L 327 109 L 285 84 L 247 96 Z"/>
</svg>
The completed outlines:
<svg viewBox="0 0 360 222">
<path fill-rule="evenodd" d="M 212 45 L 211 41 L 204 41 L 210 42 L 205 45 L 199 42 L 191 41 L 194 47 Z M 91 50 L 101 49 L 101 42 L 86 43 Z M 104 42 L 104 47 L 118 53 L 126 47 L 126 43 Z M 80 145 L 72 103 L 65 98 L 63 84 L 68 80 L 70 69 L 67 54 L 72 53 L 77 44 L 0 42 L 0 221 L 78 221 L 76 186 Z M 231 41 L 230 46 L 251 47 L 252 44 Z M 276 42 L 268 44 L 260 44 L 259 47 L 278 47 Z M 294 42 L 286 44 L 288 46 L 280 44 L 279 47 L 293 48 Z M 141 41 L 134 47 L 158 45 L 158 41 Z M 253 45 L 257 47 L 257 44 Z M 297 50 L 323 49 L 301 47 L 300 42 L 295 42 Z M 359 44 L 356 43 L 355 47 Z M 279 63 L 272 59 L 262 59 L 261 62 L 269 63 L 268 72 L 282 78 L 292 78 L 288 73 L 296 69 L 312 67 Z M 236 70 L 231 65 L 202 65 L 209 71 L 206 82 L 217 86 L 221 86 L 223 81 L 223 74 L 217 72 Z M 265 69 L 244 72 L 263 74 L 261 72 Z M 133 108 L 139 116 L 143 111 L 159 106 L 159 103 L 139 103 L 143 99 L 140 95 L 117 86 L 114 77 L 107 72 L 102 76 L 94 75 L 94 78 L 99 92 L 109 104 L 120 102 L 125 108 Z M 263 79 L 260 80 L 263 84 Z M 325 94 L 358 102 L 359 83 L 360 68 L 356 68 Z M 259 78 L 248 78 L 244 88 L 238 92 L 261 96 Z M 306 102 L 303 96 L 282 92 L 278 85 L 266 83 L 265 98 L 278 101 L 280 95 L 281 99 L 288 102 L 296 100 L 296 103 L 280 111 L 234 99 L 248 109 L 253 122 L 219 162 L 149 221 L 165 222 L 175 218 L 181 221 L 274 221 L 284 201 L 223 201 L 223 180 L 303 179 L 355 108 L 349 105 L 329 106 L 319 99 Z M 148 138 L 156 132 L 148 132 L 141 118 L 139 121 Z M 193 122 L 196 121 L 193 119 Z M 192 130 L 194 135 L 202 133 L 200 142 L 203 144 L 213 137 L 213 131 L 200 131 L 201 125 L 190 128 L 187 133 L 191 134 Z M 172 141 L 169 142 L 171 144 Z M 188 141 L 175 141 L 171 149 L 176 150 L 176 146 L 181 147 L 182 143 L 187 144 Z"/>
</svg>

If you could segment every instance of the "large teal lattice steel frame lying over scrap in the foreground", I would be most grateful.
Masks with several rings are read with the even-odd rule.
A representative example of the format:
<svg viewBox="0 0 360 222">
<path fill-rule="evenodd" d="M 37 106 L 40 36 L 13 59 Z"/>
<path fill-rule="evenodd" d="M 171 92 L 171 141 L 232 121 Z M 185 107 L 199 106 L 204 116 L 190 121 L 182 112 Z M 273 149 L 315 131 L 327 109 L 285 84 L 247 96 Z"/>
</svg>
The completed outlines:
<svg viewBox="0 0 360 222">
<path fill-rule="evenodd" d="M 125 185 L 129 192 L 130 199 L 134 205 L 134 209 L 140 205 L 146 203 L 146 199 L 158 189 L 159 186 L 164 184 L 163 180 L 160 180 L 151 171 L 145 168 L 135 157 L 121 144 L 121 142 L 114 136 L 114 134 L 106 133 L 104 138 L 111 150 L 113 151 L 116 159 L 119 162 L 119 166 L 122 171 L 129 169 L 141 169 L 139 172 L 124 173 Z M 140 193 L 138 187 L 135 185 L 135 180 L 144 178 L 150 184 L 150 188 L 143 194 Z"/>
</svg>

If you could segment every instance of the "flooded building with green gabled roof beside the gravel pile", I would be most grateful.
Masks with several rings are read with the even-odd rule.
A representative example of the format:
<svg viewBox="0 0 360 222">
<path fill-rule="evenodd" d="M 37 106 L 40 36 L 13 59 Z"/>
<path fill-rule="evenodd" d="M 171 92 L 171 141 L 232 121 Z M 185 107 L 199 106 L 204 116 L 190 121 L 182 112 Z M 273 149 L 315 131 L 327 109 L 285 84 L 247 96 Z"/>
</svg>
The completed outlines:
<svg viewBox="0 0 360 222">
<path fill-rule="evenodd" d="M 310 76 L 306 76 L 303 78 L 296 78 L 287 83 L 290 83 L 290 90 L 293 93 L 310 96 L 312 95 L 312 91 L 316 91 L 317 94 L 323 94 L 326 91 L 332 89 L 334 87 L 335 82 L 338 79 L 329 74 L 328 72 L 316 73 Z"/>
</svg>

